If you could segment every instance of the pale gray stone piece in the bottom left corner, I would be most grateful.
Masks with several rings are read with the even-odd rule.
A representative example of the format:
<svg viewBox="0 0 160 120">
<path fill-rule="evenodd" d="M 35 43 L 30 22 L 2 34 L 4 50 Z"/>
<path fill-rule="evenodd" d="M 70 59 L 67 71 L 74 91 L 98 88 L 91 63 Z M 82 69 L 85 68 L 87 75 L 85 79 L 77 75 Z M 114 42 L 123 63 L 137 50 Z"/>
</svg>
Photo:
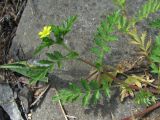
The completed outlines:
<svg viewBox="0 0 160 120">
<path fill-rule="evenodd" d="M 18 106 L 14 100 L 12 89 L 8 84 L 0 84 L 0 96 L 0 105 L 10 116 L 10 119 L 23 120 Z"/>
</svg>

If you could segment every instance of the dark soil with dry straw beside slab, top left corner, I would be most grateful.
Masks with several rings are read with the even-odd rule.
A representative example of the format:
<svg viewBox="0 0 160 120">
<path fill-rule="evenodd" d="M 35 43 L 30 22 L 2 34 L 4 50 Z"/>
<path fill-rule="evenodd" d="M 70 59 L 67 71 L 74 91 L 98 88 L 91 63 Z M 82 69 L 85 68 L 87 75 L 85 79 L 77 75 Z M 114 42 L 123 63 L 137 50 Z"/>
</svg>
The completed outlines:
<svg viewBox="0 0 160 120">
<path fill-rule="evenodd" d="M 27 0 L 0 0 L 0 64 L 8 61 L 8 52 Z"/>
</svg>

